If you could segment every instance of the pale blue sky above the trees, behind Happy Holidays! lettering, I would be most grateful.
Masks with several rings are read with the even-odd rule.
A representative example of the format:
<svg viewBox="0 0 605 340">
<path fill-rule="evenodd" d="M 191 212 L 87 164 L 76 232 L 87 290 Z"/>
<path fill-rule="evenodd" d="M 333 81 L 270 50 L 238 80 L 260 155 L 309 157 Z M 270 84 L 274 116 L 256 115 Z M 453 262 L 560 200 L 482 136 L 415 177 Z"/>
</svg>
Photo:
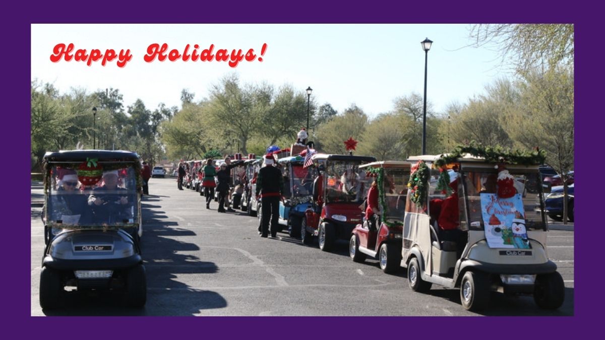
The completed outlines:
<svg viewBox="0 0 605 340">
<path fill-rule="evenodd" d="M 393 110 L 393 99 L 424 91 L 424 51 L 420 41 L 431 39 L 428 53 L 427 99 L 437 112 L 451 102 L 466 102 L 482 94 L 485 85 L 511 76 L 495 51 L 466 47 L 471 43 L 465 24 L 35 24 L 31 25 L 31 79 L 53 83 L 60 93 L 71 87 L 96 91 L 118 88 L 125 105 L 142 99 L 148 108 L 160 102 L 180 106 L 183 88 L 195 99 L 207 97 L 212 84 L 237 73 L 242 83 L 289 83 L 313 88 L 319 105 L 330 103 L 341 112 L 352 103 L 370 117 Z M 116 61 L 105 67 L 83 62 L 50 61 L 56 44 L 75 49 L 131 50 L 125 67 Z M 183 51 L 186 44 L 267 51 L 263 62 L 158 62 L 143 60 L 149 44 L 167 43 Z"/>
</svg>

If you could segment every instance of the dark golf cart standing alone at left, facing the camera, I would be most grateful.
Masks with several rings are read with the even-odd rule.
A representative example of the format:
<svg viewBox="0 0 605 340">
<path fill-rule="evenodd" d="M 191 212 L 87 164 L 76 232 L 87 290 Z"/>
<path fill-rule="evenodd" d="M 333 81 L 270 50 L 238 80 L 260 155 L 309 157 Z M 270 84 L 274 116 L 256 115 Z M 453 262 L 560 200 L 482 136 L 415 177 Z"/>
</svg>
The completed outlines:
<svg viewBox="0 0 605 340">
<path fill-rule="evenodd" d="M 59 307 L 73 293 L 65 287 L 120 292 L 128 306 L 144 306 L 139 155 L 47 152 L 44 167 L 41 307 Z"/>
</svg>

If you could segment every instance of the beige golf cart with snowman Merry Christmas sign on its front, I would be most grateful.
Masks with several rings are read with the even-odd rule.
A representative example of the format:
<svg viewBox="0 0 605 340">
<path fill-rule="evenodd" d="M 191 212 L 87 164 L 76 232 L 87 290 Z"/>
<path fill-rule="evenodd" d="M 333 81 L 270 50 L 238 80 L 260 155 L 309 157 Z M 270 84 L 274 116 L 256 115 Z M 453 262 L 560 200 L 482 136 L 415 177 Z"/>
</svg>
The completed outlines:
<svg viewBox="0 0 605 340">
<path fill-rule="evenodd" d="M 563 278 L 546 250 L 538 172 L 543 157 L 536 151 L 494 159 L 471 146 L 449 155 L 410 157 L 418 163 L 410 175 L 401 266 L 407 267 L 411 289 L 459 287 L 462 306 L 473 311 L 488 306 L 492 290 L 532 294 L 538 307 L 560 307 Z M 515 178 L 535 187 L 519 189 Z M 450 195 L 443 183 L 453 188 Z M 536 201 L 541 208 L 534 210 Z"/>
</svg>

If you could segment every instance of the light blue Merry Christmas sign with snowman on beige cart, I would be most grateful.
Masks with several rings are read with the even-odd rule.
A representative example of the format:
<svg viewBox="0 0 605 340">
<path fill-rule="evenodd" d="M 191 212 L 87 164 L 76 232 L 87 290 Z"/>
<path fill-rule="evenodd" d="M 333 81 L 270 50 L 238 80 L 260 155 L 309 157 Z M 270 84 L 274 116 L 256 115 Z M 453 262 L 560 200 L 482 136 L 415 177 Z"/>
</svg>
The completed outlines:
<svg viewBox="0 0 605 340">
<path fill-rule="evenodd" d="M 525 212 L 520 194 L 509 198 L 481 194 L 485 239 L 490 248 L 529 249 Z"/>
</svg>

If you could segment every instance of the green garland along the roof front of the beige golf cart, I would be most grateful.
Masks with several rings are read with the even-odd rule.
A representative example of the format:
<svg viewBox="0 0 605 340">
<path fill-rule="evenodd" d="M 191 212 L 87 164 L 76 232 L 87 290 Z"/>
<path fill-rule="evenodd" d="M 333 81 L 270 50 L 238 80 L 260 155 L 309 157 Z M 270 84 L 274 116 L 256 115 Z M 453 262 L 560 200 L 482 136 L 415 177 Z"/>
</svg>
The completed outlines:
<svg viewBox="0 0 605 340">
<path fill-rule="evenodd" d="M 442 155 L 435 161 L 436 168 L 442 168 L 465 154 L 471 154 L 474 157 L 482 157 L 486 163 L 507 163 L 518 165 L 540 165 L 544 164 L 546 152 L 535 148 L 532 151 L 508 149 L 500 146 L 483 146 L 474 140 L 469 145 L 458 145 L 450 154 Z"/>
</svg>

